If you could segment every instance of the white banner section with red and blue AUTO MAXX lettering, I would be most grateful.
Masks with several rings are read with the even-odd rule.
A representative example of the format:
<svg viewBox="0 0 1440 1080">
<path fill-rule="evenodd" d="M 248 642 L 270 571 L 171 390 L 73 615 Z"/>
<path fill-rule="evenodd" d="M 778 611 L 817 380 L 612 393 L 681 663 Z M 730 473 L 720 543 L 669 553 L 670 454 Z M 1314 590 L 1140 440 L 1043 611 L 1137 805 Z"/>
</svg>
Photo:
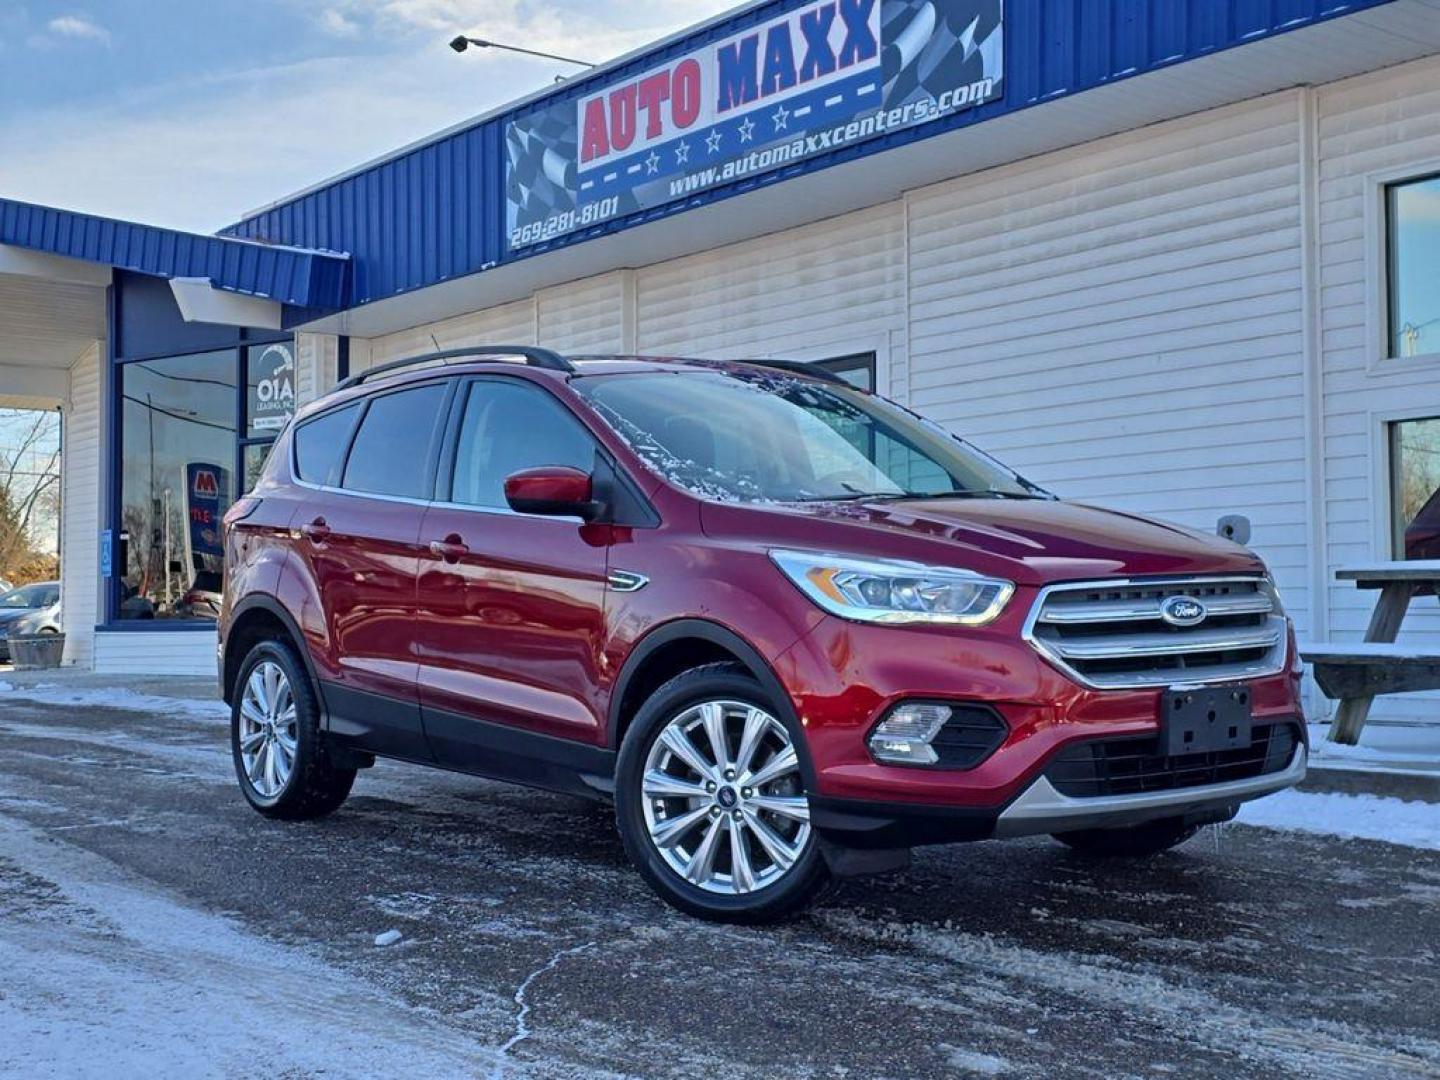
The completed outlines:
<svg viewBox="0 0 1440 1080">
<path fill-rule="evenodd" d="M 580 170 L 703 131 L 757 102 L 778 105 L 851 76 L 868 73 L 870 92 L 877 92 L 878 68 L 878 0 L 806 4 L 582 98 Z"/>
</svg>

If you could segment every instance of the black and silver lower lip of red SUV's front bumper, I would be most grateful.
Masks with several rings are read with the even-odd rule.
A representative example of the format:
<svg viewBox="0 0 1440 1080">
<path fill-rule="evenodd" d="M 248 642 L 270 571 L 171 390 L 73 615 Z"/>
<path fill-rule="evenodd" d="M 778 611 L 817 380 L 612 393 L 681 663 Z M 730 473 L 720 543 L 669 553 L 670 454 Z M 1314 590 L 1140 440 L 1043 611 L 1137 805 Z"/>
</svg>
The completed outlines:
<svg viewBox="0 0 1440 1080">
<path fill-rule="evenodd" d="M 1227 821 L 1241 802 L 1293 788 L 1305 779 L 1306 763 L 1308 750 L 1300 743 L 1280 772 L 1194 788 L 1093 798 L 1061 795 L 1041 775 L 1005 806 L 992 809 L 822 796 L 811 799 L 811 822 L 832 844 L 865 850 L 1120 828 L 1159 818 L 1184 818 L 1200 825 Z"/>
</svg>

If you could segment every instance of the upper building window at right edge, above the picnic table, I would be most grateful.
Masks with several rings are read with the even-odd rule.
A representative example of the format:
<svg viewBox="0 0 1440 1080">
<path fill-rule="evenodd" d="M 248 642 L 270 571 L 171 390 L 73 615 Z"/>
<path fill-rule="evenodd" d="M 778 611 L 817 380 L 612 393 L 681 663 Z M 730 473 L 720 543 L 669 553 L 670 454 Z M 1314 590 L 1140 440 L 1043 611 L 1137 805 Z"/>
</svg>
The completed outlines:
<svg viewBox="0 0 1440 1080">
<path fill-rule="evenodd" d="M 1385 192 L 1390 356 L 1440 353 L 1440 176 Z"/>
</svg>

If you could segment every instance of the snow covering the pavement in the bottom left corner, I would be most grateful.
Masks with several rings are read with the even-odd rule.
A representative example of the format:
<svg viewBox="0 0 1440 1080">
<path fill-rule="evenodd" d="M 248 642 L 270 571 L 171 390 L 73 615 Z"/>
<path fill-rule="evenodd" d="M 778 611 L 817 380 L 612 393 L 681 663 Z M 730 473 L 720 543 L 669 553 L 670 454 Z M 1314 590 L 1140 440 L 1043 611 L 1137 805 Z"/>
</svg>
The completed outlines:
<svg viewBox="0 0 1440 1080">
<path fill-rule="evenodd" d="M 14 822 L 0 824 L 0 837 L 3 1076 L 154 1076 L 157 1061 L 184 1077 L 524 1071 L 372 985 L 183 907 L 101 858 Z"/>
</svg>

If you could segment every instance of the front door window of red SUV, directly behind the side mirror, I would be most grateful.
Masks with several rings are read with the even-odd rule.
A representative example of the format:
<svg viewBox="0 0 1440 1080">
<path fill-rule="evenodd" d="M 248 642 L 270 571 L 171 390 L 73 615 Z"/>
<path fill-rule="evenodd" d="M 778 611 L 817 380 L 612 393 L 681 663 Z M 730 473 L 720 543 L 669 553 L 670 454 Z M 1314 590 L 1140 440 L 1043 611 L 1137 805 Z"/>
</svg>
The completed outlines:
<svg viewBox="0 0 1440 1080">
<path fill-rule="evenodd" d="M 524 383 L 471 383 L 455 448 L 451 501 L 505 507 L 505 477 L 541 465 L 595 468 L 595 439 L 544 390 Z"/>
</svg>

